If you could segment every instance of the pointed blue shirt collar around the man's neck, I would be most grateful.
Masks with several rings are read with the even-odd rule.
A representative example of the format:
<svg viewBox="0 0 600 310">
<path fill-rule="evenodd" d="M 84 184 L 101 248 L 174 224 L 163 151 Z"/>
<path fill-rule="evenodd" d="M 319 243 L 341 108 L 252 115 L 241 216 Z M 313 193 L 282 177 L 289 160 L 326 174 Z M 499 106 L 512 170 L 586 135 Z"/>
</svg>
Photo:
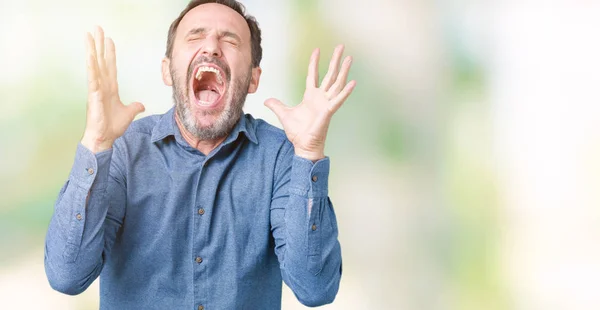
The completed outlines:
<svg viewBox="0 0 600 310">
<path fill-rule="evenodd" d="M 223 144 L 230 143 L 237 139 L 240 132 L 243 132 L 248 140 L 258 144 L 255 125 L 254 118 L 250 114 L 242 114 L 231 130 L 229 136 L 223 141 Z M 177 124 L 175 123 L 175 107 L 172 107 L 167 113 L 163 114 L 156 125 L 154 125 L 151 141 L 154 143 L 168 136 L 175 136 L 176 130 L 179 131 L 179 127 L 177 127 Z"/>
</svg>

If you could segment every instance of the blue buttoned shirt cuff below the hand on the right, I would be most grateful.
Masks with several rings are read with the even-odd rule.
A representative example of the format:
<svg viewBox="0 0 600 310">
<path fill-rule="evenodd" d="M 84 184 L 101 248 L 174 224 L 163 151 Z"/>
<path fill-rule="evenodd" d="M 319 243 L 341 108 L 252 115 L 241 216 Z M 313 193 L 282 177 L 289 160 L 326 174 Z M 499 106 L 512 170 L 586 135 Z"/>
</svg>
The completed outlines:
<svg viewBox="0 0 600 310">
<path fill-rule="evenodd" d="M 290 190 L 293 194 L 321 198 L 328 195 L 329 157 L 313 163 L 311 160 L 294 155 Z"/>
</svg>

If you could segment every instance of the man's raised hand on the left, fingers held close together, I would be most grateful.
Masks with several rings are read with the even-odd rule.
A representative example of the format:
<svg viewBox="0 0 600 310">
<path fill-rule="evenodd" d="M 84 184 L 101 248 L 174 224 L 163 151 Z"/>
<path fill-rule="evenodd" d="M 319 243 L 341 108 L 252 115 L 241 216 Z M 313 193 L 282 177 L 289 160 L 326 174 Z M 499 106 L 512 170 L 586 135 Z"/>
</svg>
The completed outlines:
<svg viewBox="0 0 600 310">
<path fill-rule="evenodd" d="M 106 45 L 106 50 L 105 50 Z M 88 74 L 87 122 L 81 144 L 93 153 L 108 150 L 145 108 L 139 102 L 125 106 L 119 98 L 115 44 L 97 27 L 86 33 Z"/>
</svg>

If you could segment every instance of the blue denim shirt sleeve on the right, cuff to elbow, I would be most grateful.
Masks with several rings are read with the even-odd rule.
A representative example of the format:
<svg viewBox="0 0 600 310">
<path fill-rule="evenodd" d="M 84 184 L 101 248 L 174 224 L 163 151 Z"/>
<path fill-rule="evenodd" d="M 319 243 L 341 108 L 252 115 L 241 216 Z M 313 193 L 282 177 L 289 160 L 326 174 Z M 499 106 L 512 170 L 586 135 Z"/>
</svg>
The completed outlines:
<svg viewBox="0 0 600 310">
<path fill-rule="evenodd" d="M 307 306 L 333 302 L 342 274 L 341 248 L 328 195 L 329 158 L 316 163 L 279 155 L 271 202 L 271 229 L 282 278 Z"/>
</svg>

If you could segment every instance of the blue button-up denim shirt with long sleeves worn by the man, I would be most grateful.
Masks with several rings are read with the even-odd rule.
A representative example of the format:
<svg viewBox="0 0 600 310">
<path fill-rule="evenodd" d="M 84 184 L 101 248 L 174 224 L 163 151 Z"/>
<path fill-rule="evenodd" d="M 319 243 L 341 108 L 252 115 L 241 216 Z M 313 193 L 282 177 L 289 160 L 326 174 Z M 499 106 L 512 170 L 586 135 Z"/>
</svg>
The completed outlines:
<svg viewBox="0 0 600 310">
<path fill-rule="evenodd" d="M 329 159 L 294 155 L 249 114 L 204 155 L 174 115 L 133 122 L 110 150 L 78 145 L 46 235 L 50 285 L 74 295 L 100 276 L 101 309 L 280 309 L 283 278 L 305 305 L 332 302 Z"/>
</svg>

